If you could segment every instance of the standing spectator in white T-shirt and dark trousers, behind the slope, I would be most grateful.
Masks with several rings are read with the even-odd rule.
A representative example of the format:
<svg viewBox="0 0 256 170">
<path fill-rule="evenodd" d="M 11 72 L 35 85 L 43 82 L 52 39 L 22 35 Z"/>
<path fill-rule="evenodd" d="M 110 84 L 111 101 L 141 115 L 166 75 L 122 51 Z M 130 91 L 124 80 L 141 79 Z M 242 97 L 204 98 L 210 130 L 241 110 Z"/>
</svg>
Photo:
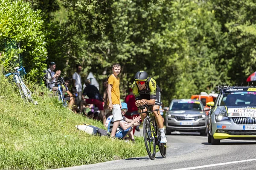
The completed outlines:
<svg viewBox="0 0 256 170">
<path fill-rule="evenodd" d="M 79 105 L 82 99 L 82 83 L 80 72 L 82 71 L 82 66 L 80 64 L 76 65 L 76 72 L 73 74 L 73 87 L 76 87 L 78 97 L 76 98 L 76 105 Z"/>
</svg>

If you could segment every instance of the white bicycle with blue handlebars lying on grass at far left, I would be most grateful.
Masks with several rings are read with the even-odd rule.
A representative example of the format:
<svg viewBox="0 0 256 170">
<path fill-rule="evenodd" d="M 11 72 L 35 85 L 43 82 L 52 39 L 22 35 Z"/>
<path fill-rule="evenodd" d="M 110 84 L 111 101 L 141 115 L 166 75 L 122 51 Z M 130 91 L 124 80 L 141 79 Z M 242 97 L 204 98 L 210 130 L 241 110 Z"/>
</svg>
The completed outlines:
<svg viewBox="0 0 256 170">
<path fill-rule="evenodd" d="M 37 101 L 34 102 L 33 99 L 32 99 L 31 91 L 29 91 L 29 89 L 26 87 L 25 83 L 23 82 L 23 79 L 20 76 L 20 71 L 23 71 L 23 74 L 26 74 L 25 68 L 16 67 L 15 72 L 8 73 L 5 76 L 8 77 L 10 75 L 13 75 L 13 80 L 14 80 L 15 84 L 17 85 L 17 87 L 20 91 L 21 98 L 24 99 L 27 102 L 30 101 L 30 102 L 34 103 L 35 105 L 37 105 L 38 104 Z"/>
</svg>

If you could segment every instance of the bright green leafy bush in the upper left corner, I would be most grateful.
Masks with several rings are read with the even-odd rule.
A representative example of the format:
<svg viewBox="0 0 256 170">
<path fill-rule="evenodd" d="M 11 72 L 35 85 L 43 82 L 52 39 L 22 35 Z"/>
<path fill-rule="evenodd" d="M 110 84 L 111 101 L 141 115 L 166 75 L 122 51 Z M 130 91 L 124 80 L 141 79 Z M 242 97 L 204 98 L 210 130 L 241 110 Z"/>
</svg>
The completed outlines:
<svg viewBox="0 0 256 170">
<path fill-rule="evenodd" d="M 23 0 L 0 0 L 0 6 L 0 64 L 6 71 L 23 65 L 35 80 L 47 59 L 41 11 L 33 11 Z"/>
</svg>

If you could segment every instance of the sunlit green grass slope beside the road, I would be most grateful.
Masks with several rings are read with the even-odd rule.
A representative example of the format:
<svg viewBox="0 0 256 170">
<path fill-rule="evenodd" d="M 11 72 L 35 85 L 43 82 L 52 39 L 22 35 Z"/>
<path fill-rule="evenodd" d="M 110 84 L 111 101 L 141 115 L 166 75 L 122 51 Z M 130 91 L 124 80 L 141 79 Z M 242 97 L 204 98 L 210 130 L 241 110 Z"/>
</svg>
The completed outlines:
<svg viewBox="0 0 256 170">
<path fill-rule="evenodd" d="M 36 85 L 29 88 L 38 105 L 23 102 L 11 77 L 1 72 L 0 169 L 51 169 L 147 155 L 143 137 L 132 144 L 77 130 L 81 123 L 105 127 L 62 107 Z"/>
</svg>

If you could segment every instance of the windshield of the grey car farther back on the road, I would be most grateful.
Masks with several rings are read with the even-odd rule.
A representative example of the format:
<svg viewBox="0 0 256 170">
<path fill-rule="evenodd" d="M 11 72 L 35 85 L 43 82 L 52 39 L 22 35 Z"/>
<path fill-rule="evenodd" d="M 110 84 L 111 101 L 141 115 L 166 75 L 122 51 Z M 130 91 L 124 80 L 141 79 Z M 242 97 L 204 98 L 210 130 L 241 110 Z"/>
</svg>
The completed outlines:
<svg viewBox="0 0 256 170">
<path fill-rule="evenodd" d="M 170 111 L 192 110 L 203 111 L 203 106 L 200 102 L 172 102 Z"/>
</svg>

